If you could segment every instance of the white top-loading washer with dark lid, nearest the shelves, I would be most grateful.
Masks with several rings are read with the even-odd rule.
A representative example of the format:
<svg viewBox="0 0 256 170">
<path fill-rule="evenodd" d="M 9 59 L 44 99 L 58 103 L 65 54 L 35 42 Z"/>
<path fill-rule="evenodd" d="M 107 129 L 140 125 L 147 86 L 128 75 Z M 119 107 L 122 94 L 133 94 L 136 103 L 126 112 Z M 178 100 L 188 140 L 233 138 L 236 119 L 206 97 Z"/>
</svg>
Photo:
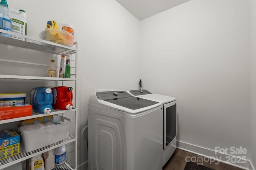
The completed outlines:
<svg viewBox="0 0 256 170">
<path fill-rule="evenodd" d="M 96 92 L 88 114 L 89 170 L 162 169 L 162 105 L 125 91 Z"/>
</svg>

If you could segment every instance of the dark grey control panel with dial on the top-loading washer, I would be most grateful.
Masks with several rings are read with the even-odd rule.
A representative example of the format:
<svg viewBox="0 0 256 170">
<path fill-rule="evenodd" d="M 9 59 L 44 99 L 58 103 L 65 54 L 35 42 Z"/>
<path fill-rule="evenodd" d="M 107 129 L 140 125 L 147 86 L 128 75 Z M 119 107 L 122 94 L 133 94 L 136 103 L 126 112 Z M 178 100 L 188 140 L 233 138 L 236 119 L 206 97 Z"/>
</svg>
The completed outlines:
<svg viewBox="0 0 256 170">
<path fill-rule="evenodd" d="M 126 98 L 131 95 L 126 91 L 110 91 L 110 92 L 97 92 L 96 96 L 100 100 L 108 100 L 108 99 L 118 99 L 118 98 Z"/>
</svg>

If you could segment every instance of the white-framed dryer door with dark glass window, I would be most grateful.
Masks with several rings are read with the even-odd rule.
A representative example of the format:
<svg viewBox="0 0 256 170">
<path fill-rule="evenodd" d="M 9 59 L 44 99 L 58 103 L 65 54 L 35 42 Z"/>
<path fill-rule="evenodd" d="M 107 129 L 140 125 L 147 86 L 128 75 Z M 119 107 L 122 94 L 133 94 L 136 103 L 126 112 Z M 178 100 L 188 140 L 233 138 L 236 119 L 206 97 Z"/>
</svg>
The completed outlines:
<svg viewBox="0 0 256 170">
<path fill-rule="evenodd" d="M 164 104 L 164 150 L 171 145 L 173 139 L 176 137 L 176 101 Z"/>
</svg>

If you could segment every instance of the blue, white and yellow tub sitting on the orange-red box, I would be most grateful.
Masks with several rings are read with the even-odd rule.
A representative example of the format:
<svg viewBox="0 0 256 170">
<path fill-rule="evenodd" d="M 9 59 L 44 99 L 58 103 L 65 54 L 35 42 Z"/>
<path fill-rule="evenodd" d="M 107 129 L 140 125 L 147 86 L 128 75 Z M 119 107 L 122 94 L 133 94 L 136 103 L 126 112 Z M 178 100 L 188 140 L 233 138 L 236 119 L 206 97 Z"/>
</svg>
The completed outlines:
<svg viewBox="0 0 256 170">
<path fill-rule="evenodd" d="M 26 93 L 0 93 L 0 106 L 25 104 Z"/>
</svg>

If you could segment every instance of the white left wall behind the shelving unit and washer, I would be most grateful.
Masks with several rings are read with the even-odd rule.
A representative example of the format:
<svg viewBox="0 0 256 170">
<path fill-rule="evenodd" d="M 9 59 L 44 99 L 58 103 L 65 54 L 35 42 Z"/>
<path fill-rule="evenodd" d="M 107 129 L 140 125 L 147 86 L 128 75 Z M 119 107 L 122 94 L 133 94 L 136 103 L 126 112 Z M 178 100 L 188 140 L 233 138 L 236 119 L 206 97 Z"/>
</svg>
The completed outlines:
<svg viewBox="0 0 256 170">
<path fill-rule="evenodd" d="M 8 5 L 9 8 L 26 11 L 28 35 L 33 37 L 45 29 L 48 20 L 70 23 L 75 27 L 79 49 L 78 165 L 84 164 L 87 160 L 87 141 L 80 134 L 87 125 L 90 95 L 98 89 L 138 88 L 139 20 L 114 0 L 8 0 Z M 2 45 L 1 57 L 20 57 L 16 55 L 18 51 L 12 54 L 12 51 L 4 50 Z M 30 51 L 24 53 L 31 55 Z M 45 62 L 36 57 L 34 60 Z M 48 56 L 45 57 L 48 63 Z M 81 170 L 84 169 L 85 166 L 82 166 Z"/>
</svg>

